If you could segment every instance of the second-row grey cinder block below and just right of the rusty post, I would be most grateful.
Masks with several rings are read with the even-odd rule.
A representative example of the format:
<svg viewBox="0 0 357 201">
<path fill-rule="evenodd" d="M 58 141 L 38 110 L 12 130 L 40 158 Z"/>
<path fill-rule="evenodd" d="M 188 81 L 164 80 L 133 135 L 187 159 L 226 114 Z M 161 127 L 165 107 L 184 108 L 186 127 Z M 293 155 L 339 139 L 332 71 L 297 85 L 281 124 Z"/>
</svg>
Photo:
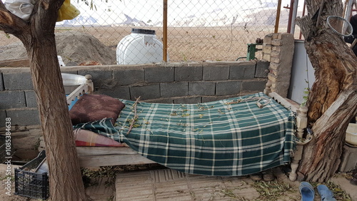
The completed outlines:
<svg viewBox="0 0 357 201">
<path fill-rule="evenodd" d="M 161 83 L 160 90 L 161 90 L 162 98 L 187 96 L 188 95 L 188 83 L 186 83 L 186 82 Z"/>
</svg>

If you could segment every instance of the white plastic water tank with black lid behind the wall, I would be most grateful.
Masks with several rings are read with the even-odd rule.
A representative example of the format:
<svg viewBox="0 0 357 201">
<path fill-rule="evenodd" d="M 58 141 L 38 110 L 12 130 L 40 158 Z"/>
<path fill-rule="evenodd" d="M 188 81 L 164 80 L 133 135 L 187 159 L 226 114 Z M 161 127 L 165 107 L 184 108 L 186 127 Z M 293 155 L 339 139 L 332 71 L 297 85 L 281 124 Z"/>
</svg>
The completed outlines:
<svg viewBox="0 0 357 201">
<path fill-rule="evenodd" d="M 116 47 L 116 64 L 158 63 L 162 60 L 163 45 L 154 30 L 131 29 L 131 34 L 121 39 Z"/>
</svg>

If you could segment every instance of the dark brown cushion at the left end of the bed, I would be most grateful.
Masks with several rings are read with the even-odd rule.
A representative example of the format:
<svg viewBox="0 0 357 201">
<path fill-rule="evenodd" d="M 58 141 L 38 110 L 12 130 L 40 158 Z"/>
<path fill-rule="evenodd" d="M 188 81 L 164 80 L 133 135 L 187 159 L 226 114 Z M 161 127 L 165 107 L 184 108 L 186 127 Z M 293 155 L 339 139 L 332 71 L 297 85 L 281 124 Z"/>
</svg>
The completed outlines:
<svg viewBox="0 0 357 201">
<path fill-rule="evenodd" d="M 111 123 L 114 125 L 124 106 L 124 103 L 121 103 L 120 100 L 110 96 L 84 94 L 69 110 L 69 115 L 73 125 L 103 118 L 112 118 Z"/>
</svg>

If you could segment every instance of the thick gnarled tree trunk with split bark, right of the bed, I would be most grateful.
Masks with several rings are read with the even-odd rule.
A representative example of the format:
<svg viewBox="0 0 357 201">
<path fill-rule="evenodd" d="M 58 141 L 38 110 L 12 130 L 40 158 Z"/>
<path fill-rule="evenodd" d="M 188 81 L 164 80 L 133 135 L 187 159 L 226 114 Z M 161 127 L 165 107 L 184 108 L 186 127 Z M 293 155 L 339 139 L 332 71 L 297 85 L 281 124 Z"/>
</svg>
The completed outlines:
<svg viewBox="0 0 357 201">
<path fill-rule="evenodd" d="M 326 182 L 338 170 L 346 129 L 357 113 L 357 58 L 326 25 L 328 16 L 341 16 L 342 4 L 333 0 L 321 6 L 321 2 L 306 0 L 309 15 L 296 21 L 316 78 L 307 103 L 314 139 L 305 145 L 298 168 L 305 180 L 313 182 Z M 339 26 L 337 21 L 332 25 Z"/>
</svg>

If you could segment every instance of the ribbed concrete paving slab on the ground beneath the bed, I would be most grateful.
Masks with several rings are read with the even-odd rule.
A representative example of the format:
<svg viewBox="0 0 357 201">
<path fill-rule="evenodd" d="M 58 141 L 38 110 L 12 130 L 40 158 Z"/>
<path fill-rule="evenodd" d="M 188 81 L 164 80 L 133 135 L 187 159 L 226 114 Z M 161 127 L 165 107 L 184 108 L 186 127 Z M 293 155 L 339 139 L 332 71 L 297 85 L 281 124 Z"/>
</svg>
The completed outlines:
<svg viewBox="0 0 357 201">
<path fill-rule="evenodd" d="M 116 200 L 254 200 L 250 179 L 187 175 L 171 169 L 123 172 L 116 176 Z"/>
</svg>

